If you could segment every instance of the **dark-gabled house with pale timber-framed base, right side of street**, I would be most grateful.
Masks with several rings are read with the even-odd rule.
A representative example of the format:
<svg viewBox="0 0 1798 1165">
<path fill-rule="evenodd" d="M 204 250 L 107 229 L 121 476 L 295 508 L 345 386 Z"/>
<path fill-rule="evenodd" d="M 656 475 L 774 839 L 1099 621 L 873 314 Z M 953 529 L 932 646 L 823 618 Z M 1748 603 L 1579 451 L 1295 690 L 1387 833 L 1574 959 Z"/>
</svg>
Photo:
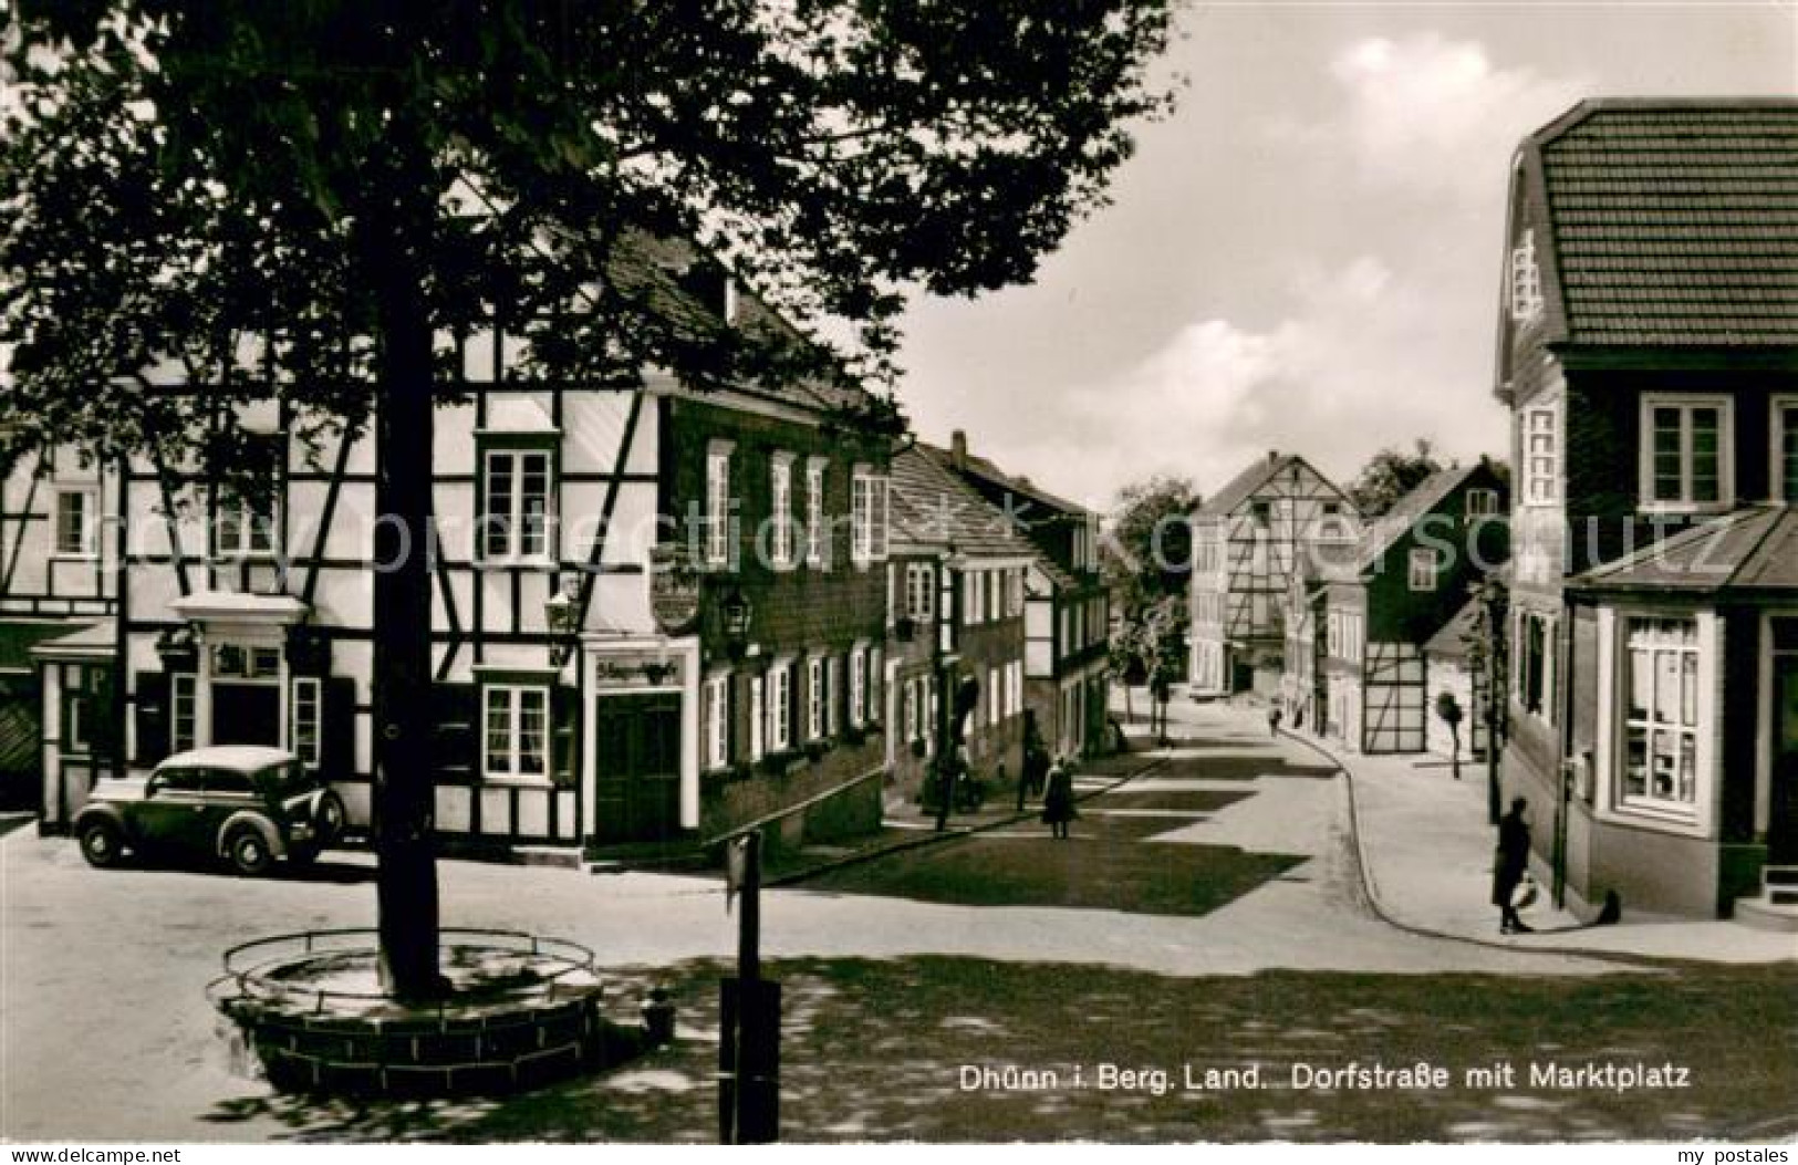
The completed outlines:
<svg viewBox="0 0 1798 1165">
<path fill-rule="evenodd" d="M 1323 735 L 1368 753 L 1428 748 L 1424 649 L 1469 584 L 1505 561 L 1505 494 L 1483 460 L 1433 473 L 1368 525 L 1345 565 L 1320 570 L 1304 595 L 1318 656 L 1298 690 Z"/>
</svg>

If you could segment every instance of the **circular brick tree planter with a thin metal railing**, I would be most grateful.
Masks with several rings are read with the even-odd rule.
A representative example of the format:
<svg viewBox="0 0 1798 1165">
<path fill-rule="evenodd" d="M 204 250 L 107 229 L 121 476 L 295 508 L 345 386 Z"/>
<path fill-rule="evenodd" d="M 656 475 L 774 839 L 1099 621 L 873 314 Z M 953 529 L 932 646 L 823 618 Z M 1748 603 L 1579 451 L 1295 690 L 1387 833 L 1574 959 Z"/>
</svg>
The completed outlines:
<svg viewBox="0 0 1798 1165">
<path fill-rule="evenodd" d="M 516 931 L 444 929 L 439 1001 L 379 991 L 372 929 L 236 946 L 207 987 L 234 1064 L 284 1091 L 349 1097 L 507 1093 L 604 1066 L 593 953 Z"/>
</svg>

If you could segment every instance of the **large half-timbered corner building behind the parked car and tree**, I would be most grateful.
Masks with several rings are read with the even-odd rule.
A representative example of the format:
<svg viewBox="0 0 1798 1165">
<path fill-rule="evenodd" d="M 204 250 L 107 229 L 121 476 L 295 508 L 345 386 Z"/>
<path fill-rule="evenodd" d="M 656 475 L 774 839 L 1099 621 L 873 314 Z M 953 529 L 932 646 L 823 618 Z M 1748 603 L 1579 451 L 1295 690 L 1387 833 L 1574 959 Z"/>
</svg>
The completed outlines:
<svg viewBox="0 0 1798 1165">
<path fill-rule="evenodd" d="M 683 248 L 640 261 L 669 268 L 651 271 L 663 293 L 692 289 Z M 770 324 L 717 289 L 685 307 Z M 520 352 L 503 327 L 455 338 L 435 419 L 417 552 L 435 577 L 444 845 L 574 858 L 877 825 L 881 410 L 838 385 L 698 390 L 653 369 L 532 383 Z M 122 485 L 126 755 L 289 748 L 365 823 L 374 444 L 300 448 L 280 403 L 219 424 L 268 444 L 268 500 L 198 462 L 137 460 Z"/>
</svg>

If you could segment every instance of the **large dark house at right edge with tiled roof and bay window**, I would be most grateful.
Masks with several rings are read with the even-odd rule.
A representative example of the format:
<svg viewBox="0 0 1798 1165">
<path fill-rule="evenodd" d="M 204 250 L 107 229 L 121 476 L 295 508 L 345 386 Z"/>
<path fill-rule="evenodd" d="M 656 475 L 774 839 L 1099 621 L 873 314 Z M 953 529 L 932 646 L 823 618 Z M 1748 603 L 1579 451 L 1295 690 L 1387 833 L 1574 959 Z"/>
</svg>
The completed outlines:
<svg viewBox="0 0 1798 1165">
<path fill-rule="evenodd" d="M 1794 156 L 1791 99 L 1588 101 L 1516 153 L 1505 784 L 1579 912 L 1798 928 Z"/>
</svg>

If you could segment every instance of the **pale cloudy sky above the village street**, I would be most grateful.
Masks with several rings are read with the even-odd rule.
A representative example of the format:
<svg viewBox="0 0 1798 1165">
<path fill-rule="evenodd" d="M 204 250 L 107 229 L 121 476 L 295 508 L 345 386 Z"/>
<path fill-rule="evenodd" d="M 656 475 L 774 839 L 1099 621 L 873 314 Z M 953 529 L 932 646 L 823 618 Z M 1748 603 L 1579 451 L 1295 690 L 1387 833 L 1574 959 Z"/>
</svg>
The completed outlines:
<svg viewBox="0 0 1798 1165">
<path fill-rule="evenodd" d="M 1428 439 L 1505 455 L 1492 397 L 1510 156 L 1586 97 L 1794 95 L 1798 5 L 1192 4 L 1113 203 L 1030 286 L 926 298 L 899 397 L 1108 509 L 1269 449 L 1352 480 Z"/>
</svg>

